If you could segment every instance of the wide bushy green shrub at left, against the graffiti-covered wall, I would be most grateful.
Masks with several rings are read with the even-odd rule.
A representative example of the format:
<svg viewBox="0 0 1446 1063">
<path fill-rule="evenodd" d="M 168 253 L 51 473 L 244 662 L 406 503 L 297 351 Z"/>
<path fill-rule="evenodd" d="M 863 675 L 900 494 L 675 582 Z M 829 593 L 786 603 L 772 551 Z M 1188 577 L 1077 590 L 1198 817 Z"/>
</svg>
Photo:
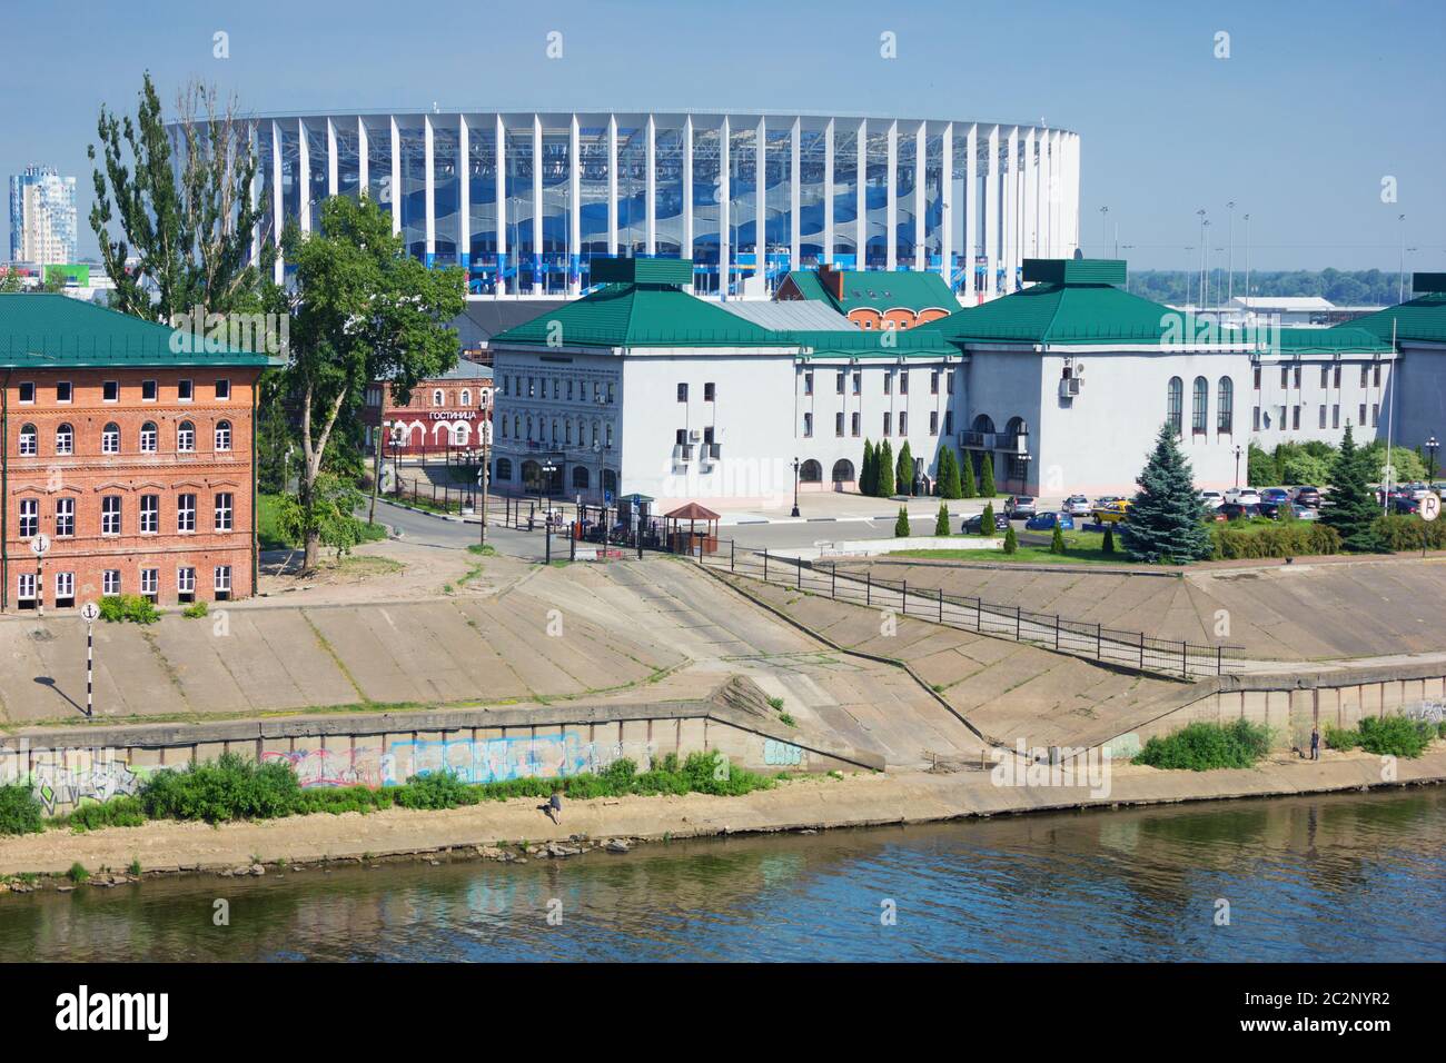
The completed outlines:
<svg viewBox="0 0 1446 1063">
<path fill-rule="evenodd" d="M 301 784 L 282 761 L 254 764 L 223 754 L 185 771 L 162 768 L 140 787 L 140 804 L 153 820 L 270 820 L 304 810 Z"/>
</svg>

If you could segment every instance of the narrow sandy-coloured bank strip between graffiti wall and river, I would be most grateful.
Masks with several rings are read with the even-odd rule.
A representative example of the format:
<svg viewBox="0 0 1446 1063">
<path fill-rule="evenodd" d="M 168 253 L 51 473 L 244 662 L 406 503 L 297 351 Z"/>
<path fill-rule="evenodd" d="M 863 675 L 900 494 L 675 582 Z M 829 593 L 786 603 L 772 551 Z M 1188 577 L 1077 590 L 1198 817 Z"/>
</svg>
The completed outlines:
<svg viewBox="0 0 1446 1063">
<path fill-rule="evenodd" d="M 1244 797 L 1301 795 L 1446 781 L 1446 742 L 1414 761 L 1327 754 L 1320 762 L 1271 758 L 1251 769 L 1210 772 L 1112 767 L 1105 785 L 999 785 L 989 772 L 905 772 L 801 778 L 748 797 L 625 797 L 568 801 L 554 826 L 531 798 L 448 811 L 305 816 L 263 823 L 150 823 L 85 834 L 59 830 L 0 840 L 0 875 L 58 875 L 80 862 L 98 872 L 137 861 L 147 874 L 217 872 L 262 863 L 309 863 L 453 852 L 482 846 L 594 839 L 664 840 L 716 834 L 930 823 L 1060 808 L 1109 808 Z M 1025 782 L 1028 782 L 1025 780 Z"/>
</svg>

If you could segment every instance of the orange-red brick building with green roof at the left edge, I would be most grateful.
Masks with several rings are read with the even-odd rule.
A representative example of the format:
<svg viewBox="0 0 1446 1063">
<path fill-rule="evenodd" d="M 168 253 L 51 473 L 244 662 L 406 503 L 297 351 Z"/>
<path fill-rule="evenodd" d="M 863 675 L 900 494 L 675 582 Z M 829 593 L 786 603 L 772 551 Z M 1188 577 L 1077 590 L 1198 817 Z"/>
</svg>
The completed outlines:
<svg viewBox="0 0 1446 1063">
<path fill-rule="evenodd" d="M 174 336 L 64 295 L 0 295 L 0 610 L 254 592 L 269 359 L 175 353 Z"/>
</svg>

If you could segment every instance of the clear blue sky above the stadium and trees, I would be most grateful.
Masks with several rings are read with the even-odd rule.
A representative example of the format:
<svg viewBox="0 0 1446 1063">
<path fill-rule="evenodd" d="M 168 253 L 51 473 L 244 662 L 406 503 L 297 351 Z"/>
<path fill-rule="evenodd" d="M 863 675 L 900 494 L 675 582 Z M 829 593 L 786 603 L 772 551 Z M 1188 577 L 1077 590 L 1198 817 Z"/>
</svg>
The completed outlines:
<svg viewBox="0 0 1446 1063">
<path fill-rule="evenodd" d="M 137 12 L 143 12 L 139 14 Z M 1184 268 L 1196 210 L 1225 243 L 1249 213 L 1252 268 L 1446 269 L 1446 3 L 777 0 L 100 0 L 7 4 L 0 174 L 46 162 L 80 187 L 81 255 L 101 101 L 143 69 L 249 111 L 674 107 L 1037 121 L 1083 139 L 1082 239 Z M 230 58 L 211 55 L 230 35 Z M 551 30 L 564 58 L 545 58 Z M 879 35 L 898 58 L 879 58 Z M 1216 33 L 1229 58 L 1216 58 Z M 1381 201 L 1394 176 L 1397 202 Z M 6 218 L 4 224 L 9 224 Z M 9 243 L 0 244 L 9 246 Z M 1223 257 L 1222 257 L 1223 262 Z M 1239 259 L 1236 260 L 1239 266 Z"/>
</svg>

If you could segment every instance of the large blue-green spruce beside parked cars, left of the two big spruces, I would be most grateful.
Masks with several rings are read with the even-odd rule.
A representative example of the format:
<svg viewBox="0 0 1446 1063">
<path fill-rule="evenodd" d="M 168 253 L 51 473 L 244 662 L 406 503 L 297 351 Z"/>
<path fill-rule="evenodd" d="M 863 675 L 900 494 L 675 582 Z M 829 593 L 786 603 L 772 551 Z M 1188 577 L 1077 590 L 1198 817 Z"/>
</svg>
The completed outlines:
<svg viewBox="0 0 1446 1063">
<path fill-rule="evenodd" d="M 1210 557 L 1210 535 L 1202 524 L 1194 476 L 1168 424 L 1160 427 L 1155 448 L 1137 483 L 1139 493 L 1119 532 L 1129 555 L 1135 561 L 1168 564 Z"/>
</svg>

